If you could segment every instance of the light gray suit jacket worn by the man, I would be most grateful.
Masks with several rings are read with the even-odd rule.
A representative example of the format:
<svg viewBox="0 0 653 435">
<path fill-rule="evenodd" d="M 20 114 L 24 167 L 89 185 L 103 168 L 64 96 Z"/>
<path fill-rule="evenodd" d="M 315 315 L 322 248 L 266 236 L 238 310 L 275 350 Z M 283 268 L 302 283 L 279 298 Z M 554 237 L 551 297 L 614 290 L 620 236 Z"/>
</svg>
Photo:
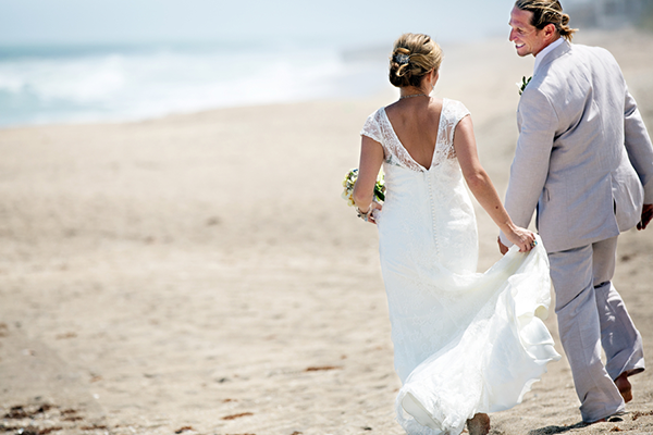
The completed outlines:
<svg viewBox="0 0 653 435">
<path fill-rule="evenodd" d="M 526 227 L 537 208 L 549 252 L 617 236 L 653 203 L 651 138 L 608 51 L 565 41 L 546 54 L 517 123 L 506 210 Z"/>
</svg>

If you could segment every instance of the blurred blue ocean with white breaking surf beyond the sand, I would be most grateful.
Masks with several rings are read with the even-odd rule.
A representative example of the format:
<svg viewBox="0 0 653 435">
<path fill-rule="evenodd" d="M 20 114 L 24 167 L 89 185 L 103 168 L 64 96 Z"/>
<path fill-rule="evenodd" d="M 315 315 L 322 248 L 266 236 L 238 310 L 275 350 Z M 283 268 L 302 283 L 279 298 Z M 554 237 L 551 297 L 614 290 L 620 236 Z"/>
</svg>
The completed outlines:
<svg viewBox="0 0 653 435">
<path fill-rule="evenodd" d="M 365 97 L 386 48 L 315 41 L 0 46 L 0 127 Z"/>
</svg>

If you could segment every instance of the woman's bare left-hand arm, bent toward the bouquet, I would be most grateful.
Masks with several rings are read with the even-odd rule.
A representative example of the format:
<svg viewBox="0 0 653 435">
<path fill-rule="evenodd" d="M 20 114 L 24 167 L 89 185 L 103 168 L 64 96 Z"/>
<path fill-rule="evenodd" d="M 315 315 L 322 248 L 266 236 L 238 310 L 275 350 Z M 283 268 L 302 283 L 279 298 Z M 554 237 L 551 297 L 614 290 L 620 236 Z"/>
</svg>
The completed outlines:
<svg viewBox="0 0 653 435">
<path fill-rule="evenodd" d="M 358 163 L 358 179 L 354 186 L 354 202 L 358 210 L 366 213 L 370 211 L 374 199 L 374 185 L 377 175 L 383 164 L 383 147 L 378 141 L 362 136 L 360 144 L 360 162 Z M 373 207 L 381 209 L 381 204 L 374 202 Z M 372 223 L 373 219 L 370 220 Z"/>
</svg>

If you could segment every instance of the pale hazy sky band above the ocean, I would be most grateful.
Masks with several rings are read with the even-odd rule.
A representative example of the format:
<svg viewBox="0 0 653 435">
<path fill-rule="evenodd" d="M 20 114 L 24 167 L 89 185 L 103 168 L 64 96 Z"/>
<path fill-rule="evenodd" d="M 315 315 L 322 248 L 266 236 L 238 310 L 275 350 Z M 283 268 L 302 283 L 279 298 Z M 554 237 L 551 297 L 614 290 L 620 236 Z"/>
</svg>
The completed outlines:
<svg viewBox="0 0 653 435">
<path fill-rule="evenodd" d="M 333 40 L 508 34 L 514 0 L 0 0 L 0 45 Z"/>
</svg>

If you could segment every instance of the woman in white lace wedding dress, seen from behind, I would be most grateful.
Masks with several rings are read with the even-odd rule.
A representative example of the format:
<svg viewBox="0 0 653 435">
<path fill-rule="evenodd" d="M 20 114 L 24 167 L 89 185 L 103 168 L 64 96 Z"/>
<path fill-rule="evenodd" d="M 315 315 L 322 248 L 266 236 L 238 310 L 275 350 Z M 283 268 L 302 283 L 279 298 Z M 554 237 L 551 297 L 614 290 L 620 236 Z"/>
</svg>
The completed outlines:
<svg viewBox="0 0 653 435">
<path fill-rule="evenodd" d="M 490 431 L 489 412 L 519 403 L 559 359 L 541 319 L 550 277 L 539 237 L 513 224 L 481 166 L 469 112 L 430 96 L 440 47 L 427 35 L 395 42 L 390 82 L 398 101 L 362 128 L 354 200 L 379 228 L 395 370 L 397 420 L 409 434 Z M 373 201 L 383 165 L 385 201 Z M 465 182 L 515 244 L 477 273 L 476 216 Z"/>
</svg>

